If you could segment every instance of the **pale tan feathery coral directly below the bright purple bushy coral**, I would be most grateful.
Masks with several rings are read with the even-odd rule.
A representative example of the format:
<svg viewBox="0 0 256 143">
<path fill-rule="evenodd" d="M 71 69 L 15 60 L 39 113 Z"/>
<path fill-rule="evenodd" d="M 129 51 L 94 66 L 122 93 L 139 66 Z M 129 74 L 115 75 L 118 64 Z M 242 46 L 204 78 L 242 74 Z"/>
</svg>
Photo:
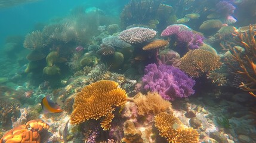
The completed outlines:
<svg viewBox="0 0 256 143">
<path fill-rule="evenodd" d="M 171 107 L 171 102 L 164 100 L 157 92 L 147 92 L 147 95 L 139 92 L 135 95 L 134 102 L 139 115 L 158 114 Z"/>
</svg>

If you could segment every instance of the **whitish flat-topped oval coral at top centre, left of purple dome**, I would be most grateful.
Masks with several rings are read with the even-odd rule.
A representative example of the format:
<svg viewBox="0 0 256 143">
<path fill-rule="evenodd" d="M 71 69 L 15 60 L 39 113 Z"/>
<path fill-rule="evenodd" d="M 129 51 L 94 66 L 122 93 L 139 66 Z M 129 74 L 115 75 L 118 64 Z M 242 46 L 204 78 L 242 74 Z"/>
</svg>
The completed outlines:
<svg viewBox="0 0 256 143">
<path fill-rule="evenodd" d="M 156 31 L 144 27 L 133 27 L 122 31 L 118 36 L 129 44 L 143 43 L 153 39 L 156 36 Z"/>
</svg>

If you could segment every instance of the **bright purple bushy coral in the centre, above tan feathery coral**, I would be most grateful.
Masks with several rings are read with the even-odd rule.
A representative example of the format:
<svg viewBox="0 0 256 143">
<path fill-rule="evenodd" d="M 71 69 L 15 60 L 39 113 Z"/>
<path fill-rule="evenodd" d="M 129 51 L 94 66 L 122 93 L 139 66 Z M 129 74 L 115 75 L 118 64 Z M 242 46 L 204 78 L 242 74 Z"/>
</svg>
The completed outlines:
<svg viewBox="0 0 256 143">
<path fill-rule="evenodd" d="M 195 93 L 192 89 L 195 80 L 176 67 L 165 64 L 158 67 L 156 64 L 149 64 L 145 68 L 145 73 L 141 88 L 158 92 L 165 100 L 186 98 Z"/>
</svg>

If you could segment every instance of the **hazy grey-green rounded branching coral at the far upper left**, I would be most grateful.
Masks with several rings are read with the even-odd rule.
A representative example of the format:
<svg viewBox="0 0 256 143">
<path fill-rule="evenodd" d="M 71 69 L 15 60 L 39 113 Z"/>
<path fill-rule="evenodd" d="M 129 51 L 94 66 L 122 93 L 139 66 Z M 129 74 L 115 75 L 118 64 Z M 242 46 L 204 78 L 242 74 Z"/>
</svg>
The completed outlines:
<svg viewBox="0 0 256 143">
<path fill-rule="evenodd" d="M 45 43 L 44 33 L 36 30 L 26 35 L 23 46 L 28 49 L 44 48 Z"/>
</svg>

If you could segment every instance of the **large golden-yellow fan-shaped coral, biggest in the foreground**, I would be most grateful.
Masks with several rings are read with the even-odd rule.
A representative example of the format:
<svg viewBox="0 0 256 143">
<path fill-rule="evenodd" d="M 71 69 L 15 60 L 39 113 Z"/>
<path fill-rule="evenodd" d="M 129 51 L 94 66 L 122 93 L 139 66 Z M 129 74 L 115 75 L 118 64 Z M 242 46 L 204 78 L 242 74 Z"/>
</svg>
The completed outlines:
<svg viewBox="0 0 256 143">
<path fill-rule="evenodd" d="M 80 124 L 89 119 L 102 119 L 103 130 L 110 129 L 110 122 L 115 107 L 122 107 L 127 102 L 124 89 L 118 88 L 118 83 L 111 80 L 100 80 L 85 86 L 76 95 L 70 123 Z"/>
</svg>

